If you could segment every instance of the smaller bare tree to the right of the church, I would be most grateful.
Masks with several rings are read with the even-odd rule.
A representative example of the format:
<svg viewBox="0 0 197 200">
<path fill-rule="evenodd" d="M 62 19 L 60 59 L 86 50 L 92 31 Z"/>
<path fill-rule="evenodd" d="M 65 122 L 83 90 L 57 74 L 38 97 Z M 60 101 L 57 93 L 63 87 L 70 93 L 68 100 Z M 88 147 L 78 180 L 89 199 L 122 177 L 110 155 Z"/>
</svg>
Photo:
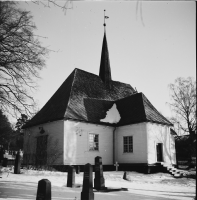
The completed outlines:
<svg viewBox="0 0 197 200">
<path fill-rule="evenodd" d="M 191 77 L 177 78 L 169 88 L 172 99 L 170 106 L 175 113 L 173 120 L 189 134 L 188 151 L 192 156 L 196 146 L 196 81 Z"/>
</svg>

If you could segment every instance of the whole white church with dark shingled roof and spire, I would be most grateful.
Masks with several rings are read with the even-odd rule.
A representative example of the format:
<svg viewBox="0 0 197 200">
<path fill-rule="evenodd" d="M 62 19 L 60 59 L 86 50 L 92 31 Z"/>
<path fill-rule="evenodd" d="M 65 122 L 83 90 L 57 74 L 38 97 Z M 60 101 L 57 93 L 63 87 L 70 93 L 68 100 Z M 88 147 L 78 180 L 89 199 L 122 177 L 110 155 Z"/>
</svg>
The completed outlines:
<svg viewBox="0 0 197 200">
<path fill-rule="evenodd" d="M 74 69 L 23 128 L 24 164 L 94 165 L 100 156 L 104 170 L 176 165 L 173 124 L 143 93 L 112 80 L 106 32 L 99 75 Z"/>
</svg>

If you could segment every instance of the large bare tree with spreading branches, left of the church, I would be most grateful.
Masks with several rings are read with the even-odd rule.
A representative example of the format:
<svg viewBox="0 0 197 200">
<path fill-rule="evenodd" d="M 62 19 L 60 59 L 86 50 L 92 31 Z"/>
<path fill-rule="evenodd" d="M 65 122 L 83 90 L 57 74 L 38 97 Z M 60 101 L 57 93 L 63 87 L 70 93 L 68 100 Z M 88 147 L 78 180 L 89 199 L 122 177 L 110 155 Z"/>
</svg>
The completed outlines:
<svg viewBox="0 0 197 200">
<path fill-rule="evenodd" d="M 17 3 L 0 1 L 0 109 L 31 115 L 35 79 L 45 66 L 48 50 L 41 46 L 30 12 Z"/>
</svg>

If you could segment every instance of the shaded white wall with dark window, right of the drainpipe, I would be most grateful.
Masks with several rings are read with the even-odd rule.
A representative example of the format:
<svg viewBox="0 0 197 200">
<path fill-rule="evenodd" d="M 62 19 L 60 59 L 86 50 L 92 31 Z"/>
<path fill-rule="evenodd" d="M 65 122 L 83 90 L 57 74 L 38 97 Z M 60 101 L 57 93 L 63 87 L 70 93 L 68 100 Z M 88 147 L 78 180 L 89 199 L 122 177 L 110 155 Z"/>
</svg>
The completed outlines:
<svg viewBox="0 0 197 200">
<path fill-rule="evenodd" d="M 123 137 L 133 136 L 133 153 L 123 152 Z M 147 163 L 146 123 L 116 129 L 116 158 L 118 163 Z"/>
</svg>

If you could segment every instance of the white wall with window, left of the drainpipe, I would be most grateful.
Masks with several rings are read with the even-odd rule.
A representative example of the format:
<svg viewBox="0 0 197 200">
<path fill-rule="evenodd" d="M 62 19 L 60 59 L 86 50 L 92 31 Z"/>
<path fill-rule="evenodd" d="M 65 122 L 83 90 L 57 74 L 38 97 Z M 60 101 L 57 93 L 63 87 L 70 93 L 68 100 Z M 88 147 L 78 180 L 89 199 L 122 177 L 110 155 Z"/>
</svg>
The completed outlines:
<svg viewBox="0 0 197 200">
<path fill-rule="evenodd" d="M 89 133 L 99 134 L 99 151 L 89 151 Z M 67 120 L 64 122 L 64 164 L 94 164 L 96 156 L 103 165 L 113 164 L 113 128 Z"/>
</svg>

